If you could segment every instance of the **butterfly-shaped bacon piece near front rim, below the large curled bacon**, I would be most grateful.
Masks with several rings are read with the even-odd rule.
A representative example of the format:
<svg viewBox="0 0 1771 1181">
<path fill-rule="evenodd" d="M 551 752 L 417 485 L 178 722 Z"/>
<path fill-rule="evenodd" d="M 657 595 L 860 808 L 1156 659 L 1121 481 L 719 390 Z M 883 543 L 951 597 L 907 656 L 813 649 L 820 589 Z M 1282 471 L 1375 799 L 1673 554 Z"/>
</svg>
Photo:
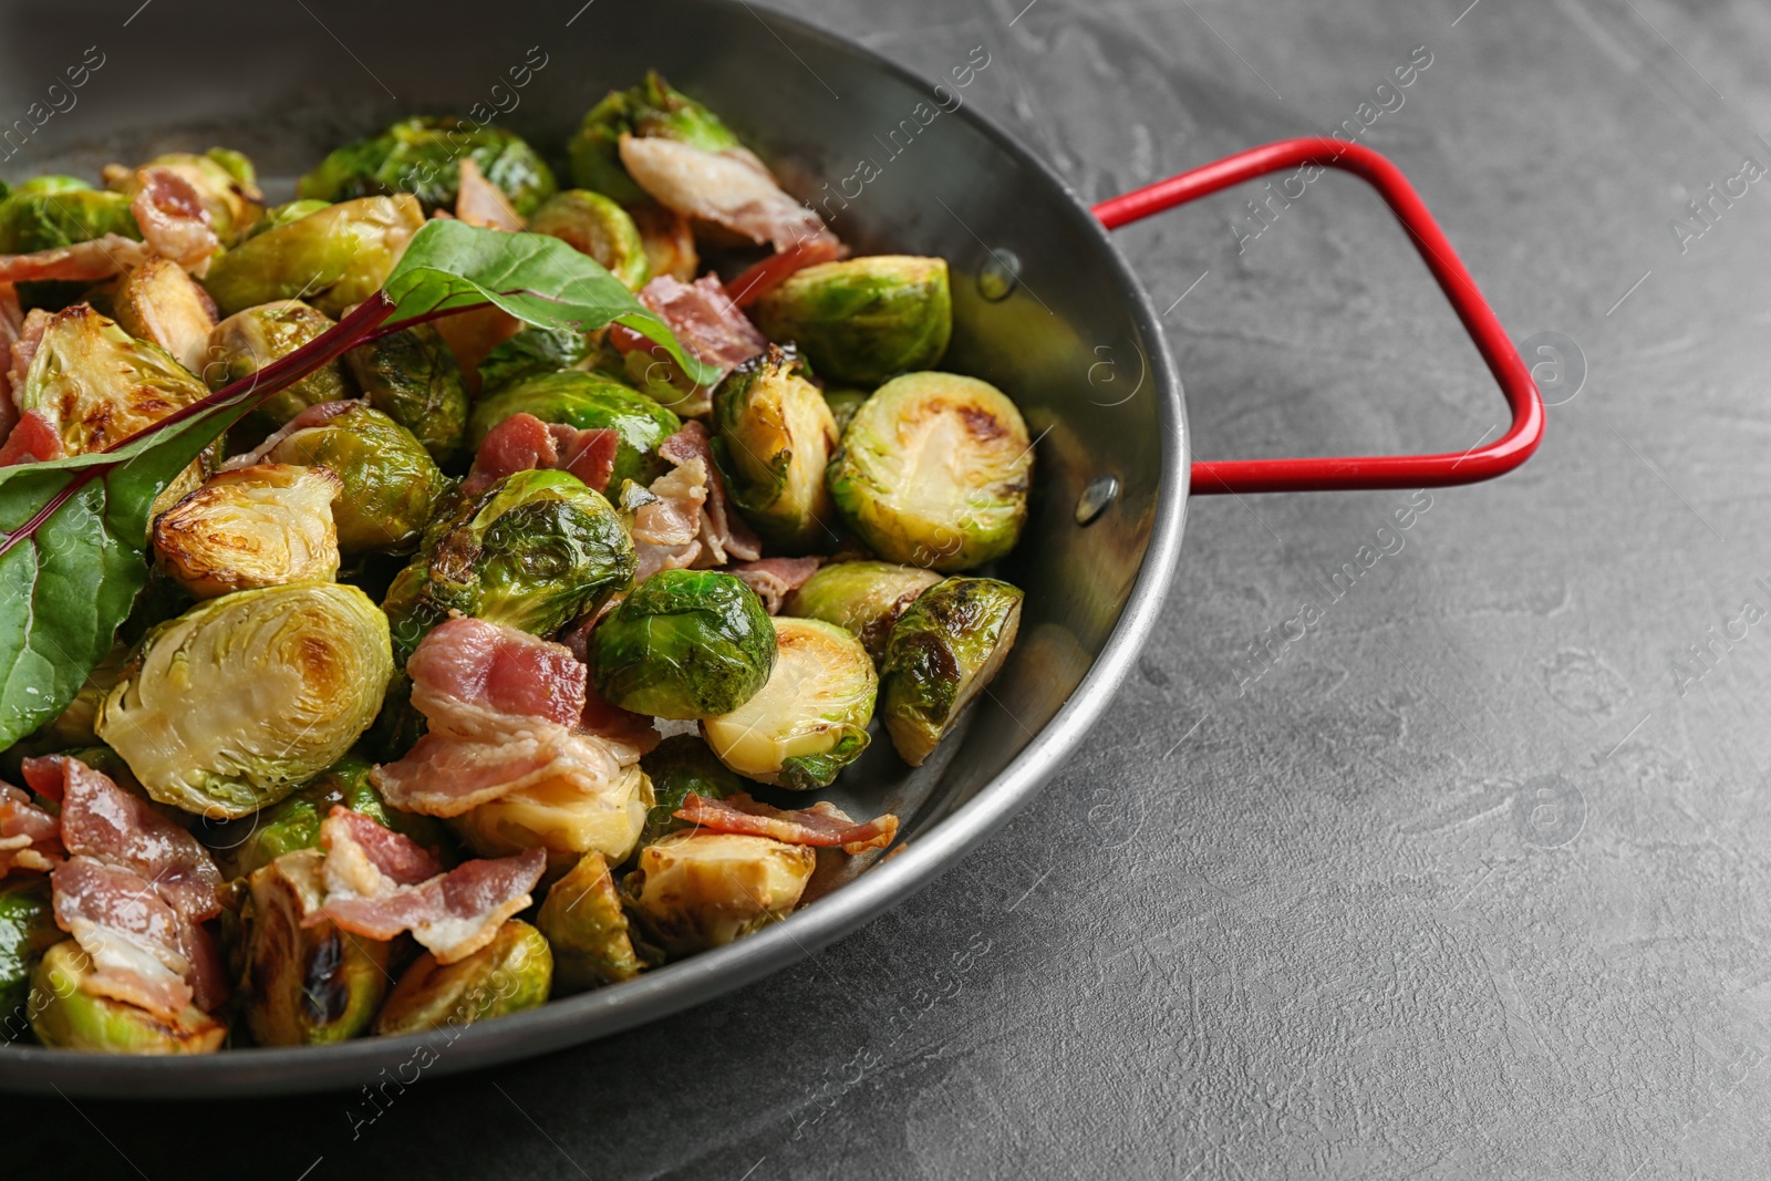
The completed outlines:
<svg viewBox="0 0 1771 1181">
<path fill-rule="evenodd" d="M 321 823 L 321 843 L 326 846 L 326 905 L 303 922 L 331 919 L 347 931 L 381 940 L 411 931 L 437 963 L 455 963 L 492 942 L 505 919 L 533 901 L 530 891 L 547 868 L 547 853 L 531 848 L 413 880 L 420 859 L 429 853 L 336 806 Z"/>
</svg>

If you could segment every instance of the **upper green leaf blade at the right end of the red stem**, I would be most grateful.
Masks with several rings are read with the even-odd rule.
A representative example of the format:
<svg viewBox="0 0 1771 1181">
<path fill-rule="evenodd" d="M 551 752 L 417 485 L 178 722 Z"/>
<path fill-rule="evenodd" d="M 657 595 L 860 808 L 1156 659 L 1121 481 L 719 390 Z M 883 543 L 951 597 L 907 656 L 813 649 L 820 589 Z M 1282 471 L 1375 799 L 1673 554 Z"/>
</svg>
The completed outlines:
<svg viewBox="0 0 1771 1181">
<path fill-rule="evenodd" d="M 558 237 L 483 230 L 453 220 L 425 223 L 383 285 L 393 299 L 393 324 L 452 308 L 494 303 L 526 324 L 588 333 L 622 324 L 664 345 L 698 384 L 719 381 L 719 368 L 689 354 L 669 326 L 595 259 Z"/>
</svg>

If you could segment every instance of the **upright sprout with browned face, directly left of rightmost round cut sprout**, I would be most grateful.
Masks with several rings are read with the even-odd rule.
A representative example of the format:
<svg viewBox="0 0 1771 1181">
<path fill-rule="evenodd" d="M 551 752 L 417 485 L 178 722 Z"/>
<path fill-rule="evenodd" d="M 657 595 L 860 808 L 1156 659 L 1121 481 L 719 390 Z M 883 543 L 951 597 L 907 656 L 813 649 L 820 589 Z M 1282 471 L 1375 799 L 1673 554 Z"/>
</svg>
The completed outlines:
<svg viewBox="0 0 1771 1181">
<path fill-rule="evenodd" d="M 769 345 L 714 391 L 714 462 L 726 492 L 763 542 L 806 552 L 836 540 L 824 467 L 836 420 L 792 351 Z"/>
</svg>

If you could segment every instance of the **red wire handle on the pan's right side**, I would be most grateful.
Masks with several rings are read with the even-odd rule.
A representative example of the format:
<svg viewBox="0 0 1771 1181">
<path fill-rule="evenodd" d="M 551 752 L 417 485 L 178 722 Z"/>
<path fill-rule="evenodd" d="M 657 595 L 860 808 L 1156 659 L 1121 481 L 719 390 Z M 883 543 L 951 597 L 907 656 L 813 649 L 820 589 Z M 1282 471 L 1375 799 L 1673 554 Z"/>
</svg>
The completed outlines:
<svg viewBox="0 0 1771 1181">
<path fill-rule="evenodd" d="M 1427 212 L 1408 177 L 1388 159 L 1330 138 L 1280 140 L 1247 152 L 1183 172 L 1167 181 L 1146 184 L 1125 197 L 1094 205 L 1094 216 L 1109 230 L 1139 221 L 1164 209 L 1174 209 L 1199 197 L 1227 189 L 1243 181 L 1264 177 L 1282 168 L 1341 168 L 1371 184 L 1390 205 L 1390 212 L 1415 239 L 1420 259 L 1433 271 L 1440 290 L 1450 299 L 1470 338 L 1475 342 L 1500 391 L 1512 407 L 1512 428 L 1488 446 L 1443 455 L 1357 455 L 1344 459 L 1245 459 L 1194 464 L 1194 492 L 1335 492 L 1350 489 L 1417 489 L 1452 483 L 1477 483 L 1502 476 L 1537 450 L 1544 434 L 1544 407 L 1530 370 L 1520 359 L 1495 310 L 1488 306 L 1475 280 L 1458 259 L 1445 232 Z"/>
</svg>

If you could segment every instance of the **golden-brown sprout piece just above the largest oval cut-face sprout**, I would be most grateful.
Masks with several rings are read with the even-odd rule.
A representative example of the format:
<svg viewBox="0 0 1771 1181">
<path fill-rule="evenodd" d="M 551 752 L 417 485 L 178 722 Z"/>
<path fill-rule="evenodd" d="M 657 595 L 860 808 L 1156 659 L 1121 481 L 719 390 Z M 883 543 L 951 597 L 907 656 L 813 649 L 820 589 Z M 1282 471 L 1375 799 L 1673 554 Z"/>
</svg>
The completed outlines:
<svg viewBox="0 0 1771 1181">
<path fill-rule="evenodd" d="M 338 577 L 331 505 L 342 489 L 324 467 L 223 471 L 154 519 L 154 554 L 197 598 L 329 583 Z"/>
</svg>

